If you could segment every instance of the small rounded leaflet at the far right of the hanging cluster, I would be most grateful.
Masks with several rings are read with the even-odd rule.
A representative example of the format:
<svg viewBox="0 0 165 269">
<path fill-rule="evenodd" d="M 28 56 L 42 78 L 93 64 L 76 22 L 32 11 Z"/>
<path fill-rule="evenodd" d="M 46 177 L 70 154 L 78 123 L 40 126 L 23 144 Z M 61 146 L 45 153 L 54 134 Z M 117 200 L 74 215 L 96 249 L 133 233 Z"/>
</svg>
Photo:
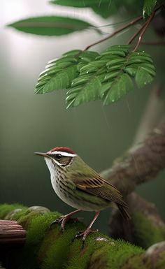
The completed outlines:
<svg viewBox="0 0 165 269">
<path fill-rule="evenodd" d="M 148 69 L 144 67 L 138 67 L 136 72 L 135 81 L 139 88 L 144 87 L 148 83 L 152 82 L 153 75 L 148 72 Z"/>
</svg>

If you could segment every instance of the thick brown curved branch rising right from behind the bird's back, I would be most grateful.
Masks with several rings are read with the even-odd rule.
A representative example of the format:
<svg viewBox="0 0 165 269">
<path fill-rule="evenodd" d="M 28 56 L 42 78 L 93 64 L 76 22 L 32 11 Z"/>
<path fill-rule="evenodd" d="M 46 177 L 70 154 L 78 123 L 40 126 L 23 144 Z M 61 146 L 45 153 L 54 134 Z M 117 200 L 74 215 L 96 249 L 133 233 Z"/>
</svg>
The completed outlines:
<svg viewBox="0 0 165 269">
<path fill-rule="evenodd" d="M 152 180 L 164 168 L 165 118 L 143 143 L 132 147 L 112 168 L 104 170 L 101 176 L 127 196 L 136 185 Z"/>
</svg>

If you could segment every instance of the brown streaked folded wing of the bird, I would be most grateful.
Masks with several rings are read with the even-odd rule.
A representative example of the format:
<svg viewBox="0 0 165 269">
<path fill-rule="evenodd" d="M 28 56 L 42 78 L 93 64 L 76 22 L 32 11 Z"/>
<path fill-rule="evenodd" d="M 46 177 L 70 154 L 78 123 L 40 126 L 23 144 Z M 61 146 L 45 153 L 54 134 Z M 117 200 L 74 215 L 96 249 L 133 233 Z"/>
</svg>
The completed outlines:
<svg viewBox="0 0 165 269">
<path fill-rule="evenodd" d="M 81 189 L 89 194 L 127 206 L 120 191 L 106 180 L 103 180 L 98 174 L 94 178 L 89 178 L 86 175 L 82 175 L 79 178 L 75 177 L 73 178 L 73 183 L 76 185 L 76 189 Z"/>
</svg>

